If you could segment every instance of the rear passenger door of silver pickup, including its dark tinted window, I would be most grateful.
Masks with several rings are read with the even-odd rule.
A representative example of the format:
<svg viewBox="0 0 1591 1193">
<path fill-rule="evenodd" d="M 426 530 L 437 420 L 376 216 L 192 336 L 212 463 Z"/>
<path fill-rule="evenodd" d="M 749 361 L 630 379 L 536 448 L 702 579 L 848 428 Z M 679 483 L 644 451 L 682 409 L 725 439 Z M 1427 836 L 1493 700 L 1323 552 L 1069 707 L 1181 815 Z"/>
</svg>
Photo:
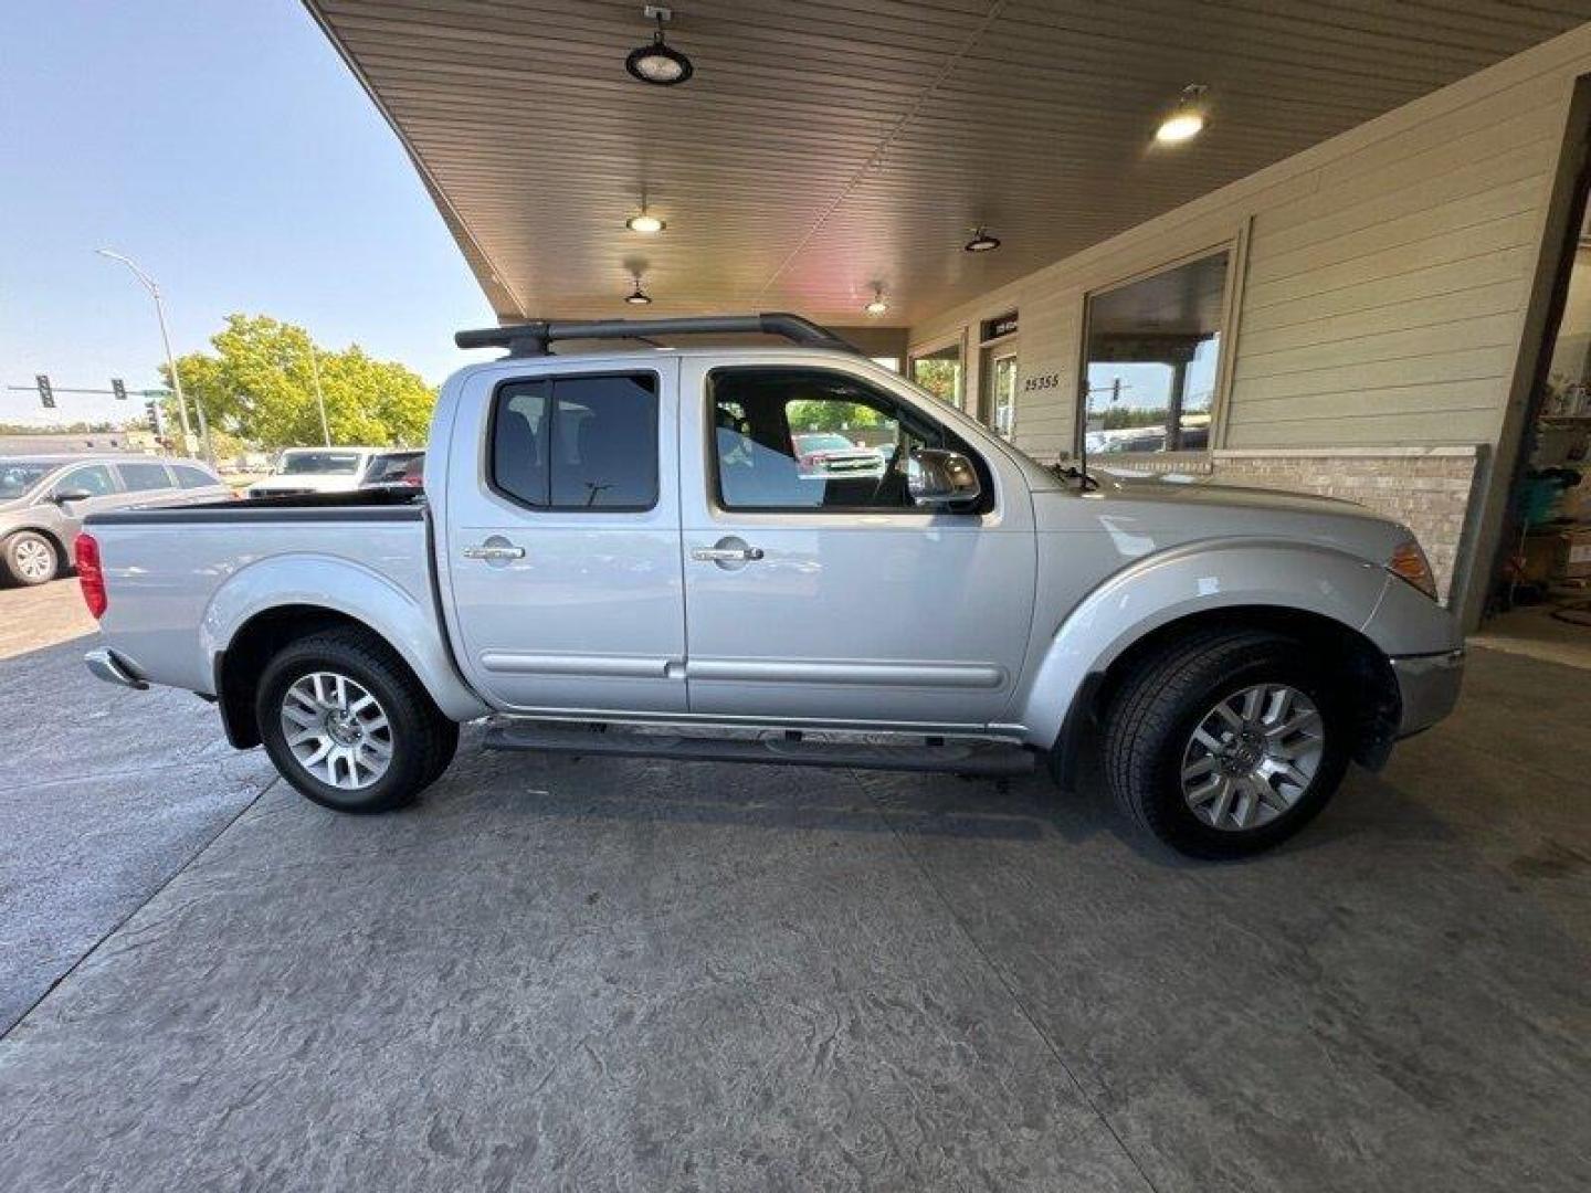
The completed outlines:
<svg viewBox="0 0 1591 1193">
<path fill-rule="evenodd" d="M 504 709 L 684 711 L 679 363 L 555 367 L 458 399 L 434 487 L 460 665 Z"/>
</svg>

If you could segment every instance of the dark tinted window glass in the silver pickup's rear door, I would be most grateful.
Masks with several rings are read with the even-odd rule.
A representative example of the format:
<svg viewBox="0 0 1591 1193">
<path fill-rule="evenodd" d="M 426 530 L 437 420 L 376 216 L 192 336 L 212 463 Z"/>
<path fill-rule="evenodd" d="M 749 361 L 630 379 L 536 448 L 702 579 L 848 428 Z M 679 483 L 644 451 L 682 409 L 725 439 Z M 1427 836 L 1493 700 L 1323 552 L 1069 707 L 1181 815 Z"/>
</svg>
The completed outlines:
<svg viewBox="0 0 1591 1193">
<path fill-rule="evenodd" d="M 657 504 L 657 375 L 511 382 L 492 412 L 492 485 L 538 509 Z"/>
</svg>

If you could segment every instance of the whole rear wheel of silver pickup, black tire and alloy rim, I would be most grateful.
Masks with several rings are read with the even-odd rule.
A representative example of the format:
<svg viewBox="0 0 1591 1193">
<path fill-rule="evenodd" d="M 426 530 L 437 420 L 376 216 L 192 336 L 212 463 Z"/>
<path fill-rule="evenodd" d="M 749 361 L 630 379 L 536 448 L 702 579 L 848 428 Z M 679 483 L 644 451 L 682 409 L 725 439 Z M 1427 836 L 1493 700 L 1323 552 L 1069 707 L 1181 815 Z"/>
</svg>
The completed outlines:
<svg viewBox="0 0 1591 1193">
<path fill-rule="evenodd" d="M 396 651 L 353 627 L 282 647 L 259 676 L 255 717 L 282 778 L 336 811 L 412 803 L 458 748 L 458 725 Z"/>
</svg>

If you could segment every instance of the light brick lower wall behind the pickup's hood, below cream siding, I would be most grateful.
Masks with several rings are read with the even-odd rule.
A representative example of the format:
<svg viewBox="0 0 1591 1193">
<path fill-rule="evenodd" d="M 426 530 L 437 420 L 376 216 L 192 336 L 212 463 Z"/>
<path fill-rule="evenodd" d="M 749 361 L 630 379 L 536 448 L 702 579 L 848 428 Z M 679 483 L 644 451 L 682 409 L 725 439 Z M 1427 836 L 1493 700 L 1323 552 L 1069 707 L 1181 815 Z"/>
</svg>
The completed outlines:
<svg viewBox="0 0 1591 1193">
<path fill-rule="evenodd" d="M 1397 519 L 1419 536 L 1446 598 L 1478 496 L 1480 461 L 1480 447 L 1219 450 L 1211 453 L 1211 479 L 1346 498 Z"/>
</svg>

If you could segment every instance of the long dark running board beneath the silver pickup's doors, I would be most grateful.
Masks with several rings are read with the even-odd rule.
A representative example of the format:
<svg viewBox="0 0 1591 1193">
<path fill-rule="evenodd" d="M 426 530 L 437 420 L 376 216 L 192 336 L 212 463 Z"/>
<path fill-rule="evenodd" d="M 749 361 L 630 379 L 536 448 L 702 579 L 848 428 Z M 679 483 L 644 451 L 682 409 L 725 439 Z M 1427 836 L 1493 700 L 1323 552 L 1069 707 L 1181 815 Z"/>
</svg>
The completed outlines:
<svg viewBox="0 0 1591 1193">
<path fill-rule="evenodd" d="M 485 748 L 546 754 L 684 759 L 689 762 L 772 762 L 784 767 L 948 771 L 980 778 L 1028 775 L 1034 768 L 1031 749 L 1001 741 L 926 738 L 915 744 L 870 744 L 862 741 L 810 741 L 799 735 L 714 738 L 617 725 L 606 729 L 606 732 L 547 725 L 492 725 L 487 729 Z"/>
</svg>

